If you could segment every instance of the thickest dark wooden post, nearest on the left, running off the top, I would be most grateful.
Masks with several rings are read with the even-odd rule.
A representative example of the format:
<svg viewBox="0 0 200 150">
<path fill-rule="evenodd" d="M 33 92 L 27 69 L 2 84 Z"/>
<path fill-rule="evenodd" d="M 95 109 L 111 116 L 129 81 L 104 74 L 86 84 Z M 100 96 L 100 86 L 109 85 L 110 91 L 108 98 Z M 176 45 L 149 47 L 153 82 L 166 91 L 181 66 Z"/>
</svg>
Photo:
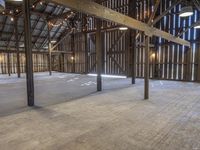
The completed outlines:
<svg viewBox="0 0 200 150">
<path fill-rule="evenodd" d="M 30 0 L 23 1 L 24 11 L 24 45 L 26 51 L 26 83 L 28 106 L 34 106 L 34 79 L 31 40 Z"/>
</svg>

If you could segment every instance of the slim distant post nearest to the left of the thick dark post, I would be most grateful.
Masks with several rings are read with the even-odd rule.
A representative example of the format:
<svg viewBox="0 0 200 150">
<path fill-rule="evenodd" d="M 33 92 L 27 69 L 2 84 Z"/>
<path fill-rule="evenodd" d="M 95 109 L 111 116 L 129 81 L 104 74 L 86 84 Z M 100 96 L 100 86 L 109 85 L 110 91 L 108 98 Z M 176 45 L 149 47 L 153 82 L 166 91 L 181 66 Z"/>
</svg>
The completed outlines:
<svg viewBox="0 0 200 150">
<path fill-rule="evenodd" d="M 20 70 L 20 52 L 19 52 L 19 38 L 18 38 L 18 18 L 15 18 L 15 47 L 17 50 L 17 76 L 18 78 L 21 77 L 21 70 Z"/>
</svg>

